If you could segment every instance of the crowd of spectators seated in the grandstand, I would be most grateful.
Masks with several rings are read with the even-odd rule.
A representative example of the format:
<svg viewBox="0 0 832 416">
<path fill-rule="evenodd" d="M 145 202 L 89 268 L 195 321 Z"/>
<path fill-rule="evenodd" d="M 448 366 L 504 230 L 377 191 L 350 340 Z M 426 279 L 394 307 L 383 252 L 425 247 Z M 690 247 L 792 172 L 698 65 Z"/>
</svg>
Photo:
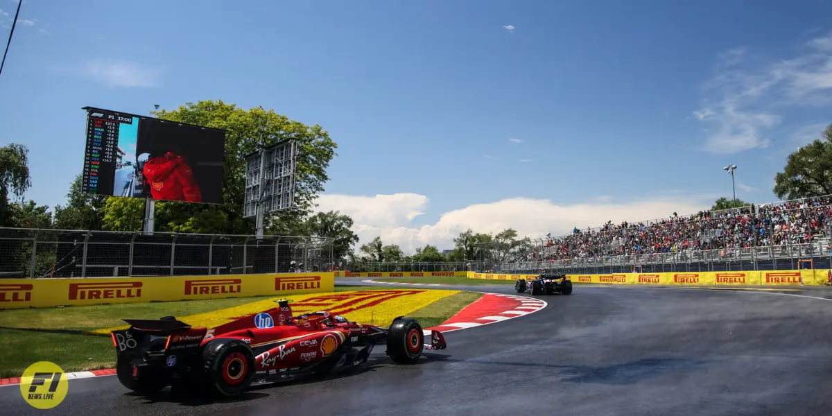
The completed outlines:
<svg viewBox="0 0 832 416">
<path fill-rule="evenodd" d="M 548 239 L 517 260 L 569 260 L 685 250 L 805 244 L 832 230 L 832 199 L 815 198 L 735 210 L 700 211 L 646 222 L 611 222 Z"/>
</svg>

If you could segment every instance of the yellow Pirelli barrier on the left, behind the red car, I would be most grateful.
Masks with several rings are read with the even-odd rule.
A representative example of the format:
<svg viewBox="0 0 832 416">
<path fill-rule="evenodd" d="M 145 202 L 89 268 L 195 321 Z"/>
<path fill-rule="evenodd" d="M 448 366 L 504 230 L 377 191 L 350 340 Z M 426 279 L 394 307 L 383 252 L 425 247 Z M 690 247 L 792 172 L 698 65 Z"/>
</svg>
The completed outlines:
<svg viewBox="0 0 832 416">
<path fill-rule="evenodd" d="M 335 290 L 332 272 L 0 280 L 0 310 L 300 295 Z"/>
</svg>

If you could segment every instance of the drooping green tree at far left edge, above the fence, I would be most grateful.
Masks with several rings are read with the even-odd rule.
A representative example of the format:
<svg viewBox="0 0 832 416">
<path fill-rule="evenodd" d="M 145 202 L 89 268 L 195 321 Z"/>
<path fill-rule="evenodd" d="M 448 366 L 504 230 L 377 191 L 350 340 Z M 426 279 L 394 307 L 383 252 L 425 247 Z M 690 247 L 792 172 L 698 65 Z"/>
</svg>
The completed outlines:
<svg viewBox="0 0 832 416">
<path fill-rule="evenodd" d="M 0 226 L 17 226 L 9 196 L 11 193 L 16 200 L 22 200 L 32 186 L 28 155 L 29 149 L 16 143 L 0 147 Z"/>
</svg>

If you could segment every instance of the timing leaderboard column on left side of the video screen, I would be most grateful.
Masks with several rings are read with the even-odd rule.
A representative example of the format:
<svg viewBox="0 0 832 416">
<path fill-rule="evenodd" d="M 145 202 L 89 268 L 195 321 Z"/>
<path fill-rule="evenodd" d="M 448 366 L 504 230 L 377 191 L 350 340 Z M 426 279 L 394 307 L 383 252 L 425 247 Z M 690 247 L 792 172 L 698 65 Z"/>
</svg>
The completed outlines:
<svg viewBox="0 0 832 416">
<path fill-rule="evenodd" d="M 131 125 L 132 116 L 92 109 L 87 113 L 87 150 L 84 152 L 82 191 L 111 196 L 118 158 L 118 130 Z"/>
</svg>

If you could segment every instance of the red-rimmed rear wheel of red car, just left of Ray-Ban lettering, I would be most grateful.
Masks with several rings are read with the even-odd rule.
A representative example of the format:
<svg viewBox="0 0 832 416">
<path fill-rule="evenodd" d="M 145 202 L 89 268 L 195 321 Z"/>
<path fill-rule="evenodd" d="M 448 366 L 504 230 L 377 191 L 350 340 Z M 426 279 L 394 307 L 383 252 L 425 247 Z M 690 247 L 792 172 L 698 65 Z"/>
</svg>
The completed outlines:
<svg viewBox="0 0 832 416">
<path fill-rule="evenodd" d="M 255 375 L 255 355 L 238 339 L 217 339 L 202 350 L 206 393 L 224 398 L 248 389 Z"/>
</svg>

